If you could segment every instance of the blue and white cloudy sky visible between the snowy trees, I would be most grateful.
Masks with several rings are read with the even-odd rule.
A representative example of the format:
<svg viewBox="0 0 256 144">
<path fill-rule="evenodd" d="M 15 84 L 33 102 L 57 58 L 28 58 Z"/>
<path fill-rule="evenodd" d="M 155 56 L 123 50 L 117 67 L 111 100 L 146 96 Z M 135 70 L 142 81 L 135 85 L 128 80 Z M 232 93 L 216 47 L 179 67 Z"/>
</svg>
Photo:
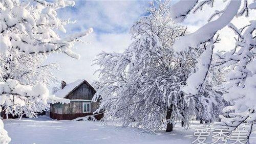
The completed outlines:
<svg viewBox="0 0 256 144">
<path fill-rule="evenodd" d="M 72 59 L 64 54 L 52 54 L 46 63 L 58 63 L 61 71 L 56 73 L 59 81 L 65 80 L 68 83 L 77 79 L 86 79 L 89 82 L 97 80 L 98 75 L 94 72 L 99 68 L 92 66 L 93 60 L 101 51 L 122 52 L 129 46 L 131 36 L 129 30 L 139 17 L 146 14 L 146 8 L 150 1 L 75 1 L 74 7 L 58 10 L 58 16 L 62 19 L 76 20 L 75 24 L 67 25 L 67 33 L 59 34 L 65 36 L 75 32 L 93 28 L 94 32 L 83 40 L 85 43 L 75 44 L 74 50 L 81 55 L 79 60 Z M 173 1 L 175 3 L 177 1 Z M 199 11 L 190 14 L 181 23 L 186 25 L 190 32 L 196 31 L 207 22 L 208 17 L 216 9 L 221 10 L 225 5 L 222 1 L 217 1 L 214 8 L 205 7 L 206 11 Z M 255 17 L 252 13 L 250 18 Z M 233 19 L 233 23 L 244 24 L 249 20 L 246 18 Z M 221 32 L 223 42 L 216 45 L 216 50 L 223 50 L 232 47 L 232 31 L 225 28 Z M 89 42 L 89 43 L 88 43 Z M 227 50 L 227 49 L 226 49 Z"/>
</svg>

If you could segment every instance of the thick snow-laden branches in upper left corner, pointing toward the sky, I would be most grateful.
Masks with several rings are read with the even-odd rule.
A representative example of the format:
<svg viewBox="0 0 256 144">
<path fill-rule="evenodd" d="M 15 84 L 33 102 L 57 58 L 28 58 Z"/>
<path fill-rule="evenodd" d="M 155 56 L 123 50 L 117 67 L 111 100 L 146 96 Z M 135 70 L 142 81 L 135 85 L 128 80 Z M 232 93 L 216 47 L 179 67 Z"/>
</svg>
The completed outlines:
<svg viewBox="0 0 256 144">
<path fill-rule="evenodd" d="M 73 58 L 79 55 L 72 51 L 74 42 L 89 35 L 93 30 L 73 34 L 61 38 L 56 30 L 66 32 L 64 26 L 72 23 L 57 17 L 56 10 L 74 6 L 73 1 L 46 2 L 34 0 L 36 4 L 6 0 L 1 2 L 0 9 L 0 38 L 1 52 L 8 54 L 8 47 L 13 47 L 24 53 L 62 52 Z"/>
</svg>

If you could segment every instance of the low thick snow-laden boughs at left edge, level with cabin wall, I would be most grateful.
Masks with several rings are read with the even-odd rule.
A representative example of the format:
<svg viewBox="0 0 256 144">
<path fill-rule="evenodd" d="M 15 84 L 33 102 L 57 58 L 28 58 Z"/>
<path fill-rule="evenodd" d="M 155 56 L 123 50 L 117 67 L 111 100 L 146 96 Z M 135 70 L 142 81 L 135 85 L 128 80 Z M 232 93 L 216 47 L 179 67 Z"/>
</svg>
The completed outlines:
<svg viewBox="0 0 256 144">
<path fill-rule="evenodd" d="M 2 90 L 0 105 L 7 114 L 26 114 L 33 117 L 36 112 L 45 110 L 49 95 L 46 85 L 22 85 L 13 79 L 0 82 L 0 85 Z"/>
</svg>

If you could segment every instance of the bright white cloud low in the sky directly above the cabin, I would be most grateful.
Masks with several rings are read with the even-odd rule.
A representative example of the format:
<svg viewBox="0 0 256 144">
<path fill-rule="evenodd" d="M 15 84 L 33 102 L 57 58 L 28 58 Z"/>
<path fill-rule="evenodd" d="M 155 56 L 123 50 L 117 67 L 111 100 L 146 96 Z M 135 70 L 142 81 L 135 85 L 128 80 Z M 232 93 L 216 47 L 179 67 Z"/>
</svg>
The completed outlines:
<svg viewBox="0 0 256 144">
<path fill-rule="evenodd" d="M 97 54 L 102 51 L 106 52 L 122 52 L 131 42 L 129 34 L 91 34 L 84 41 L 90 41 L 90 44 L 78 43 L 74 50 L 81 55 L 79 60 L 68 57 L 65 54 L 52 54 L 48 57 L 46 63 L 58 63 L 61 71 L 56 74 L 59 81 L 65 80 L 72 82 L 77 79 L 86 79 L 90 82 L 98 78 L 98 74 L 94 72 L 99 68 L 92 66 L 93 60 Z"/>
</svg>

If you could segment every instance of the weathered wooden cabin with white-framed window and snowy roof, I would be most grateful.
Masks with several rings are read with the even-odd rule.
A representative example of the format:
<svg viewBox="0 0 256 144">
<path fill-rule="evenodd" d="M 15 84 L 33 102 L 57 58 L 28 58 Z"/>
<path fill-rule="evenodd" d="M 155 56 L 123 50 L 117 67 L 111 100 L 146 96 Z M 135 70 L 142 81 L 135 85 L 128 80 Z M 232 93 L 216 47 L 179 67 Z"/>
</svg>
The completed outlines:
<svg viewBox="0 0 256 144">
<path fill-rule="evenodd" d="M 92 102 L 96 89 L 86 80 L 77 80 L 67 84 L 61 82 L 61 89 L 55 92 L 59 98 L 69 99 L 69 104 L 50 104 L 50 117 L 57 120 L 75 119 L 87 115 L 93 115 L 97 120 L 103 117 L 101 114 L 93 114 L 99 108 L 100 102 Z"/>
</svg>

